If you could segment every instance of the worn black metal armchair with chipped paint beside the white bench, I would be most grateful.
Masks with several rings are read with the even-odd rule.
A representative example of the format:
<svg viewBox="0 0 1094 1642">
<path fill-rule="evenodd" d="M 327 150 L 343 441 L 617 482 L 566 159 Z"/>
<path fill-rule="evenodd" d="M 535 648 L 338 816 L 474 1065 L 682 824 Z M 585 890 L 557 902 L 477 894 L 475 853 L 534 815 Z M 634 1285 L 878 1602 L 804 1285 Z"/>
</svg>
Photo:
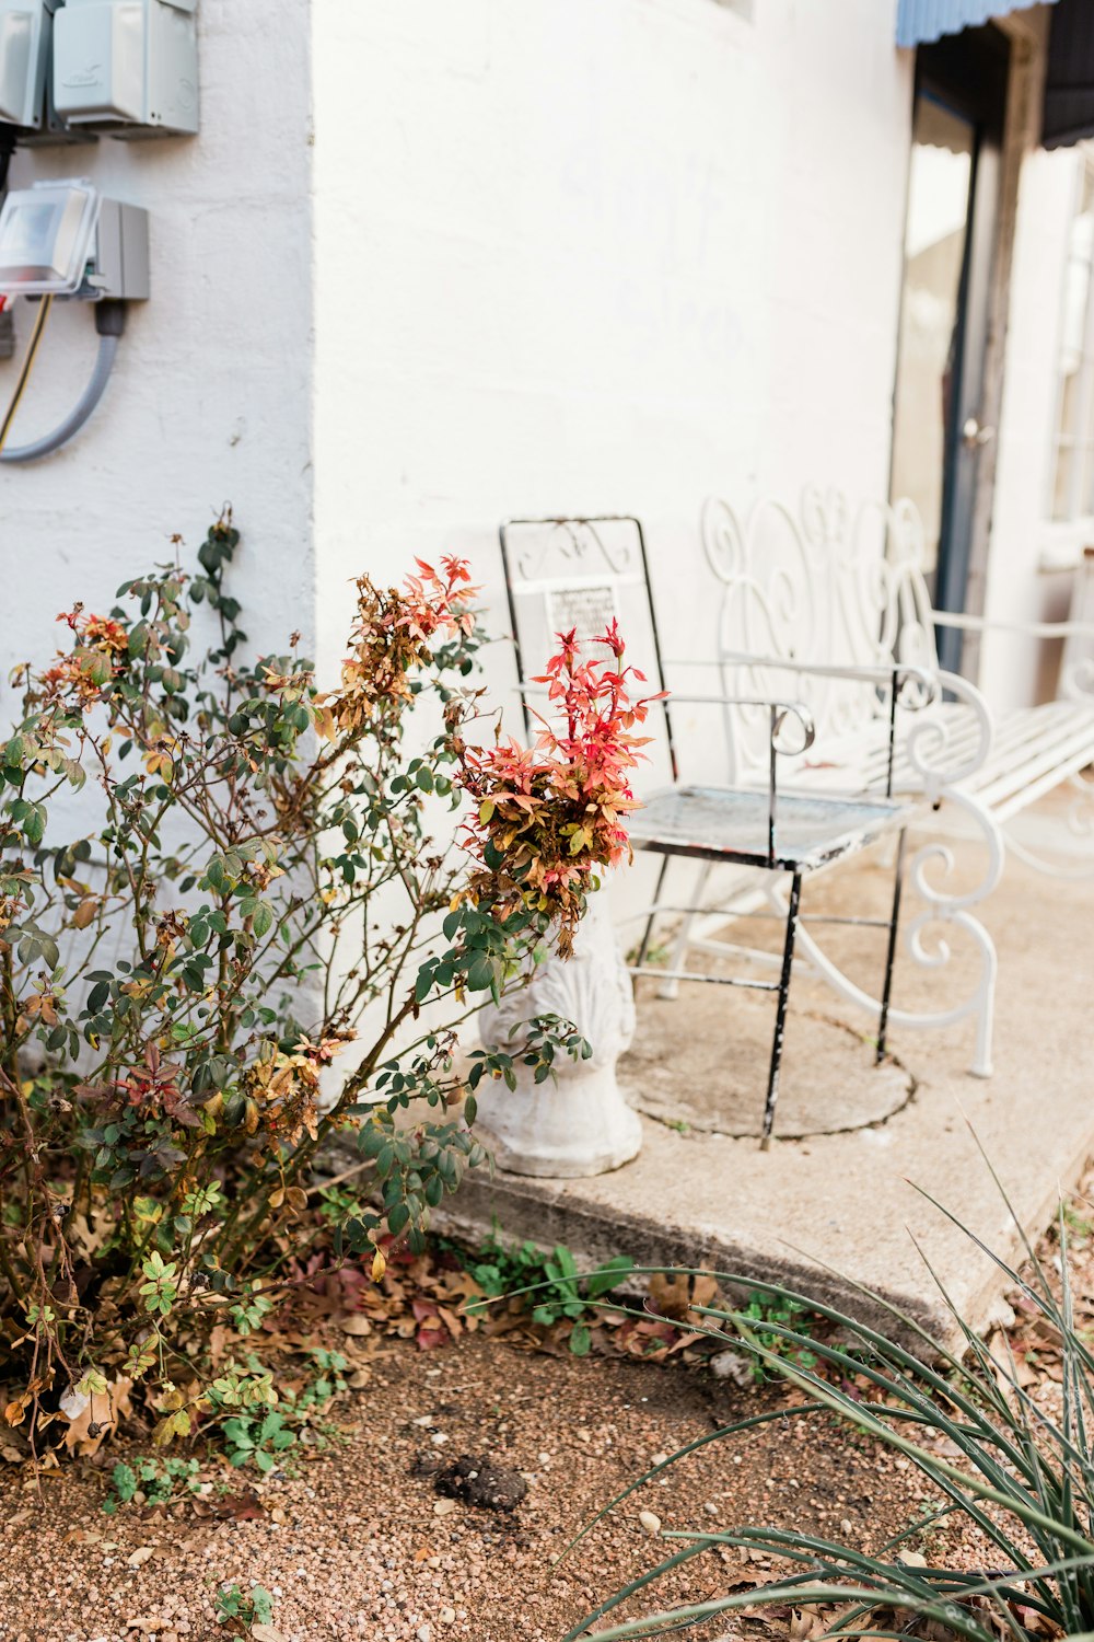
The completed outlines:
<svg viewBox="0 0 1094 1642">
<path fill-rule="evenodd" d="M 530 701 L 538 690 L 535 673 L 541 672 L 554 632 L 576 627 L 579 639 L 592 639 L 607 621 L 617 617 L 627 640 L 628 660 L 653 681 L 668 690 L 666 667 L 658 632 L 658 619 L 650 585 L 650 563 L 641 522 L 628 514 L 597 517 L 508 519 L 500 527 L 505 589 L 517 654 L 518 688 L 525 729 L 531 732 Z M 766 1149 L 774 1130 L 779 1097 L 779 1071 L 786 1036 L 786 1013 L 794 969 L 794 943 L 802 920 L 802 882 L 836 860 L 864 849 L 884 832 L 897 831 L 894 888 L 889 916 L 823 918 L 825 923 L 850 923 L 887 929 L 886 972 L 877 1025 L 877 1053 L 886 1054 L 892 969 L 900 915 L 904 878 L 904 834 L 915 805 L 892 798 L 892 760 L 896 714 L 905 683 L 912 681 L 922 698 L 922 673 L 914 667 L 891 670 L 859 668 L 855 677 L 866 688 L 889 693 L 889 780 L 884 798 L 792 793 L 781 790 L 777 767 L 781 757 L 800 757 L 814 742 L 814 721 L 799 701 L 743 698 L 728 695 L 669 695 L 659 706 L 664 724 L 664 757 L 668 785 L 654 791 L 630 821 L 635 849 L 663 857 L 653 903 L 638 916 L 645 920 L 633 975 L 654 975 L 676 984 L 745 987 L 776 993 L 776 1020 L 768 1067 L 768 1092 L 763 1115 L 761 1144 Z M 722 713 L 746 711 L 768 714 L 769 759 L 763 788 L 684 785 L 679 778 L 677 744 L 672 727 L 674 706 L 717 708 Z M 912 704 L 917 704 L 914 701 Z M 686 857 L 732 867 L 751 867 L 789 878 L 786 898 L 786 931 L 777 980 L 748 975 L 712 975 L 689 969 L 664 969 L 648 964 L 648 952 L 658 918 L 707 913 L 707 906 L 681 906 L 666 901 L 669 862 Z M 732 913 L 730 916 L 774 916 L 771 913 Z M 807 920 L 812 921 L 812 920 Z"/>
</svg>

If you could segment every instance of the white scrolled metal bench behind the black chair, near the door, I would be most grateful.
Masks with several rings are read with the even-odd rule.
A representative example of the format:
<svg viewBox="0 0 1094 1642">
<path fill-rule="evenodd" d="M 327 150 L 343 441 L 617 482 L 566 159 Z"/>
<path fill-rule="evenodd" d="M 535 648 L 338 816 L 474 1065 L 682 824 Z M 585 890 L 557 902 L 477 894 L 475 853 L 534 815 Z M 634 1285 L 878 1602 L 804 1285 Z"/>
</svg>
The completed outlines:
<svg viewBox="0 0 1094 1642">
<path fill-rule="evenodd" d="M 809 489 L 797 507 L 763 501 L 740 514 L 712 499 L 702 512 L 702 545 L 720 583 L 717 642 L 707 652 L 712 660 L 669 657 L 669 683 L 689 668 L 727 698 L 792 695 L 802 701 L 817 736 L 787 773 L 787 785 L 799 791 L 884 793 L 896 724 L 892 793 L 917 796 L 925 810 L 958 808 L 973 823 L 986 849 L 978 882 L 948 887 L 956 875 L 950 844 L 940 839 L 922 847 L 910 865 L 910 883 L 923 910 L 905 926 L 905 938 L 914 959 L 941 969 L 950 946 L 938 926 L 960 926 L 979 954 L 978 984 L 968 998 L 948 1000 L 932 1013 L 894 1007 L 889 1018 L 907 1026 L 943 1026 L 974 1016 L 971 1071 L 989 1076 L 997 961 L 974 908 L 999 882 L 1007 847 L 1053 870 L 1051 862 L 1007 839 L 1004 829 L 1061 783 L 1084 785 L 1081 772 L 1094 762 L 1092 670 L 1064 670 L 1058 701 L 994 718 L 974 685 L 938 665 L 935 649 L 937 627 L 986 632 L 992 624 L 932 608 L 923 530 L 907 501 L 851 506 L 840 493 Z M 999 626 L 1028 639 L 1094 634 L 1078 622 Z M 699 649 L 705 650 L 702 640 Z M 919 708 L 915 714 L 905 716 L 892 690 L 877 681 L 894 668 L 915 670 L 907 688 L 919 698 L 905 695 L 907 704 Z M 766 714 L 727 708 L 723 724 L 730 783 L 761 787 L 769 764 Z M 1094 851 L 1086 870 L 1094 870 Z M 743 903 L 718 895 L 710 908 L 710 872 L 702 870 L 699 892 L 677 928 L 672 974 L 687 969 L 691 951 L 741 952 L 717 928 Z M 786 888 L 771 880 L 750 893 L 766 897 L 773 908 L 786 905 Z M 877 998 L 855 985 L 809 929 L 800 931 L 799 943 L 845 998 L 876 1015 Z M 672 988 L 674 982 L 668 982 L 663 990 Z"/>
</svg>

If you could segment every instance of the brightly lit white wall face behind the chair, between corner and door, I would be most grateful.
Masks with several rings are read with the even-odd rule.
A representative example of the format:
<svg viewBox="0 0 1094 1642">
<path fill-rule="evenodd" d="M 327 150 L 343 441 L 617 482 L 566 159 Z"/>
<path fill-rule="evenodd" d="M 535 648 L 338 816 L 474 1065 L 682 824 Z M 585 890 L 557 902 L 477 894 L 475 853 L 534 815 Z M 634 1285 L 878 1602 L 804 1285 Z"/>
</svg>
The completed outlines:
<svg viewBox="0 0 1094 1642">
<path fill-rule="evenodd" d="M 884 494 L 912 59 L 877 0 L 315 13 L 320 650 L 362 566 L 646 522 L 713 645 L 710 491 Z"/>
</svg>

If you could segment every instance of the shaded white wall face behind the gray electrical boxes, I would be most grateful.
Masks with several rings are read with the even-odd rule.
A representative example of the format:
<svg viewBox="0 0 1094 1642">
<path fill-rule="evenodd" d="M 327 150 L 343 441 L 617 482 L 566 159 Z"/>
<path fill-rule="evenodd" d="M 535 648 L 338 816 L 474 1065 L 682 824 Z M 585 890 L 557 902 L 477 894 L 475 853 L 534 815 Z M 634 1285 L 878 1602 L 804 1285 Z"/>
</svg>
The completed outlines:
<svg viewBox="0 0 1094 1642">
<path fill-rule="evenodd" d="M 90 176 L 151 212 L 153 299 L 134 307 L 95 419 L 59 455 L 0 468 L 0 706 L 7 673 L 61 640 L 54 614 L 190 548 L 225 501 L 258 645 L 312 639 L 308 0 L 200 7 L 202 131 L 20 153 L 13 184 Z M 16 312 L 20 353 L 33 314 Z M 54 304 L 11 442 L 46 432 L 95 356 L 92 314 Z M 18 358 L 0 363 L 7 401 Z M 3 713 L 7 719 L 8 713 Z"/>
</svg>

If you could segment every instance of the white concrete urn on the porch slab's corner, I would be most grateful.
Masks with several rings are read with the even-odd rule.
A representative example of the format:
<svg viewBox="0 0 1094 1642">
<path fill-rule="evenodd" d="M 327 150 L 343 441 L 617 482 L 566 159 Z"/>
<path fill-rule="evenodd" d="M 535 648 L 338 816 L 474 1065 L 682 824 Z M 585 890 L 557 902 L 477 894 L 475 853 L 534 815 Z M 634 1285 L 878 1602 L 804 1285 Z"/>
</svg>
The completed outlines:
<svg viewBox="0 0 1094 1642">
<path fill-rule="evenodd" d="M 482 1010 L 484 1046 L 517 1056 L 520 1026 L 533 1015 L 571 1020 L 592 1046 L 592 1057 L 556 1057 L 554 1079 L 541 1084 L 522 1062 L 517 1089 L 479 1084 L 479 1120 L 490 1131 L 495 1161 L 515 1174 L 556 1179 L 618 1169 L 640 1151 L 641 1123 L 615 1079 L 615 1062 L 635 1036 L 635 998 L 605 890 L 589 897 L 572 957 L 548 957 L 525 988 Z"/>
</svg>

